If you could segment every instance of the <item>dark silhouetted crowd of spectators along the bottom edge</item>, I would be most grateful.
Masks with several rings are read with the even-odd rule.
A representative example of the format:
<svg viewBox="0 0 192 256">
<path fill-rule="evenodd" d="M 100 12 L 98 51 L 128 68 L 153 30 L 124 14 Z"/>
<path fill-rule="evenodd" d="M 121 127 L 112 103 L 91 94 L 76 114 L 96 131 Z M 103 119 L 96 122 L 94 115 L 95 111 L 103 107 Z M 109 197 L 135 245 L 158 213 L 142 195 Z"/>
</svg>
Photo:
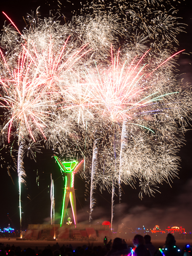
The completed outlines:
<svg viewBox="0 0 192 256">
<path fill-rule="evenodd" d="M 182 250 L 176 245 L 172 234 L 166 237 L 164 247 L 155 248 L 149 235 L 135 235 L 132 246 L 128 246 L 125 240 L 116 237 L 113 242 L 107 237 L 103 240 L 104 246 L 83 245 L 74 248 L 71 244 L 60 246 L 58 242 L 53 246 L 48 245 L 44 250 L 27 248 L 21 249 L 7 244 L 0 244 L 0 256 L 191 256 L 191 247 L 186 245 Z"/>
</svg>

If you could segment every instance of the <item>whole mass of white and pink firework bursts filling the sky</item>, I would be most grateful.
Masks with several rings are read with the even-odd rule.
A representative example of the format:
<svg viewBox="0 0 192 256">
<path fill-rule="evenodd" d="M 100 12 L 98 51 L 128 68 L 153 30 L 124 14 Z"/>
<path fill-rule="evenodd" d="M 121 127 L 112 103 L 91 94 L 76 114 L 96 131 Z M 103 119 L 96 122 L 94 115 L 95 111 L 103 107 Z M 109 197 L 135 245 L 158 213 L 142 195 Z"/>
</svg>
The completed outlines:
<svg viewBox="0 0 192 256">
<path fill-rule="evenodd" d="M 177 176 L 191 92 L 173 73 L 173 41 L 183 25 L 172 2 L 169 11 L 161 2 L 92 1 L 81 10 L 89 15 L 65 25 L 36 12 L 16 36 L 21 45 L 9 25 L 1 34 L 8 49 L 0 52 L 1 136 L 8 130 L 9 140 L 16 127 L 18 143 L 48 137 L 62 157 L 92 157 L 82 174 L 91 183 L 90 220 L 96 184 L 112 186 L 113 214 L 116 184 L 134 187 L 139 179 L 142 197 Z"/>
</svg>

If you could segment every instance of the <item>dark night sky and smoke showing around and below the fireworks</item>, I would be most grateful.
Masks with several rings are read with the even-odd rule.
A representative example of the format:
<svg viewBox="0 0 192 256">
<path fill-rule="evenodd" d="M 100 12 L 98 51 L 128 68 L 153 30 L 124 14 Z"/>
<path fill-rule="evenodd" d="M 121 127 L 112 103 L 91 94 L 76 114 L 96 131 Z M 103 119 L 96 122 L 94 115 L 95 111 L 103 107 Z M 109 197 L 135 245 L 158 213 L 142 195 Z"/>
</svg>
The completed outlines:
<svg viewBox="0 0 192 256">
<path fill-rule="evenodd" d="M 71 10 L 74 7 L 73 1 L 60 1 L 62 3 L 61 12 L 70 19 Z M 75 8 L 78 9 L 80 1 L 75 1 Z M 42 16 L 49 16 L 49 4 L 54 10 L 57 8 L 57 1 L 37 1 L 37 0 L 4 0 L 0 6 L 0 26 L 4 25 L 4 11 L 22 30 L 25 27 L 23 16 L 35 11 L 40 7 Z M 55 4 L 55 5 L 54 5 Z M 192 52 L 192 12 L 190 1 L 185 1 L 182 8 L 179 9 L 178 16 L 183 18 L 183 23 L 186 23 L 187 33 L 181 33 L 178 37 L 180 42 L 179 50 L 186 49 L 186 53 Z M 182 54 L 178 59 L 180 74 L 184 78 L 184 82 L 192 82 L 192 56 Z M 144 196 L 143 200 L 139 199 L 138 186 L 132 189 L 129 186 L 124 186 L 122 196 L 122 204 L 119 208 L 118 197 L 115 198 L 115 216 L 114 222 L 116 227 L 124 223 L 127 227 L 139 227 L 147 225 L 153 228 L 159 224 L 160 228 L 164 229 L 168 225 L 183 226 L 187 231 L 192 230 L 191 211 L 192 211 L 192 131 L 186 133 L 186 144 L 181 147 L 179 156 L 181 157 L 179 178 L 175 178 L 170 187 L 165 183 L 160 186 L 155 197 Z M 55 211 L 56 219 L 60 220 L 62 196 L 63 196 L 63 180 L 61 171 L 55 163 L 53 150 L 43 150 L 43 154 L 37 154 L 37 162 L 25 157 L 24 166 L 27 174 L 26 187 L 22 188 L 22 211 L 23 211 L 23 227 L 27 228 L 28 224 L 49 223 L 50 222 L 50 174 L 52 173 L 55 182 Z M 8 159 L 9 161 L 9 159 Z M 10 160 L 11 161 L 11 160 Z M 37 174 L 38 170 L 38 174 Z M 11 171 L 11 177 L 7 173 L 6 168 L 1 169 L 1 211 L 0 211 L 0 228 L 5 228 L 10 223 L 14 228 L 19 228 L 19 194 L 18 194 L 18 178 L 17 173 Z M 36 183 L 36 178 L 39 176 L 39 186 Z M 48 187 L 49 186 L 49 187 Z M 75 177 L 75 188 L 77 195 L 77 220 L 78 222 L 88 222 L 89 218 L 89 197 L 85 195 L 85 181 L 79 174 Z M 93 218 L 95 222 L 101 224 L 104 220 L 111 219 L 111 196 L 107 191 L 103 194 L 96 193 L 97 205 L 94 210 Z M 27 198 L 29 195 L 30 200 Z M 85 200 L 87 199 L 87 201 Z M 9 217 L 11 221 L 7 217 Z M 71 216 L 70 209 L 68 210 Z"/>
</svg>

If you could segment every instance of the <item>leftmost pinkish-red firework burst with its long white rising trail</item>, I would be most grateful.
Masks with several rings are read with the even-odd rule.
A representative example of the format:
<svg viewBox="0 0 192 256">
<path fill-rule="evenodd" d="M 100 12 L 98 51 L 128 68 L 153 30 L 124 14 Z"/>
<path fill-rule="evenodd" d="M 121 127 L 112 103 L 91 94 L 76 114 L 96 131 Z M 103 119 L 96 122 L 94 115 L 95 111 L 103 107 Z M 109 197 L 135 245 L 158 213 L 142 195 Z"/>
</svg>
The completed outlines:
<svg viewBox="0 0 192 256">
<path fill-rule="evenodd" d="M 22 38 L 25 36 L 22 35 Z M 61 50 L 55 52 L 51 36 L 47 44 L 36 47 L 36 42 L 30 37 L 26 38 L 25 44 L 21 43 L 21 48 L 14 55 L 13 63 L 7 62 L 4 54 L 1 56 L 4 60 L 4 71 L 1 75 L 1 107 L 6 110 L 7 121 L 2 127 L 3 135 L 8 129 L 8 142 L 14 128 L 18 136 L 19 155 L 18 155 L 18 177 L 19 177 L 19 207 L 20 207 L 20 225 L 21 225 L 21 184 L 25 183 L 25 170 L 23 168 L 23 141 L 30 136 L 33 141 L 38 141 L 39 136 L 44 135 L 44 131 L 50 127 L 56 117 L 56 95 L 60 92 L 58 81 L 63 81 L 64 73 L 72 70 L 71 67 L 89 50 L 83 46 L 79 50 L 70 53 L 65 49 L 66 39 Z M 2 38 L 2 40 L 5 40 Z M 70 56 L 69 56 L 70 55 Z M 11 65 L 9 65 L 11 64 Z M 54 110 L 55 109 L 55 110 Z M 61 130 L 65 126 L 59 127 Z M 46 130 L 47 131 L 47 130 Z M 1 136 L 4 138 L 4 136 Z M 32 144 L 32 143 L 29 143 Z M 30 145 L 32 146 L 32 145 Z M 28 146 L 31 152 L 32 147 Z M 38 150 L 37 150 L 38 151 Z"/>
</svg>

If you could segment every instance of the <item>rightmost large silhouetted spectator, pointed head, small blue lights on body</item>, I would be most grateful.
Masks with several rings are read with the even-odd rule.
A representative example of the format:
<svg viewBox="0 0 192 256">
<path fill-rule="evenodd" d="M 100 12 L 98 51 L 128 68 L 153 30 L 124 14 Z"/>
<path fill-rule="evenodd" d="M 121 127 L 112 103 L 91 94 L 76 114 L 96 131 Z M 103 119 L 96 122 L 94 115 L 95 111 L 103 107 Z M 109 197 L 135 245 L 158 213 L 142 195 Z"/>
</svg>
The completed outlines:
<svg viewBox="0 0 192 256">
<path fill-rule="evenodd" d="M 176 241 L 174 236 L 169 233 L 166 237 L 165 245 L 162 250 L 159 250 L 157 256 L 179 256 L 182 255 L 181 250 L 176 246 Z"/>
</svg>

